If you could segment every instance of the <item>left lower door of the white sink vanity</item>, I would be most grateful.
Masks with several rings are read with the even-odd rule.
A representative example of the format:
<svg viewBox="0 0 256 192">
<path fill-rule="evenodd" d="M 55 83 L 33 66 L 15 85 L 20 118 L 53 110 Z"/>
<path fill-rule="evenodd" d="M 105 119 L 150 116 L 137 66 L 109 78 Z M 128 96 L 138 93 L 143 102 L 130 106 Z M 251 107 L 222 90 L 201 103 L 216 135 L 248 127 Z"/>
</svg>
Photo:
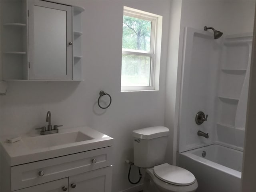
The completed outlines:
<svg viewBox="0 0 256 192">
<path fill-rule="evenodd" d="M 66 187 L 67 190 L 64 189 Z M 15 192 L 68 192 L 68 178 L 24 188 Z"/>
</svg>

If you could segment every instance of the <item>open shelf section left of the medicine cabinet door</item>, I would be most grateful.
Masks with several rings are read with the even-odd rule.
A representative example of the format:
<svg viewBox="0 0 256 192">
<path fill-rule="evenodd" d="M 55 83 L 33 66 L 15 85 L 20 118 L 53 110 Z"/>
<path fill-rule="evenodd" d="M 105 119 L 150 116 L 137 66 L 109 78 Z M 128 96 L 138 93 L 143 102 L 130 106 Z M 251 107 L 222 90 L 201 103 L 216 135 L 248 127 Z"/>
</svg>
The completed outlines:
<svg viewBox="0 0 256 192">
<path fill-rule="evenodd" d="M 28 79 L 27 1 L 1 2 L 2 79 Z"/>
</svg>

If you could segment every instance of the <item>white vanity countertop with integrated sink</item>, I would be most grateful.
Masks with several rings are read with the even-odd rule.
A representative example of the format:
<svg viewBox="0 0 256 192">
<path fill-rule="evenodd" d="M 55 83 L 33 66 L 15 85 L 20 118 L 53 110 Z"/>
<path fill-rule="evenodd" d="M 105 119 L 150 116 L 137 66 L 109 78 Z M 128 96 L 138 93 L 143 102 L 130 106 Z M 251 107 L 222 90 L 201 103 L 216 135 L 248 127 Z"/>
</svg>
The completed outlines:
<svg viewBox="0 0 256 192">
<path fill-rule="evenodd" d="M 1 155 L 6 158 L 10 166 L 113 145 L 113 138 L 89 127 L 61 128 L 54 134 L 24 134 L 20 137 L 21 140 L 14 143 L 7 143 L 4 138 L 1 141 Z"/>
</svg>

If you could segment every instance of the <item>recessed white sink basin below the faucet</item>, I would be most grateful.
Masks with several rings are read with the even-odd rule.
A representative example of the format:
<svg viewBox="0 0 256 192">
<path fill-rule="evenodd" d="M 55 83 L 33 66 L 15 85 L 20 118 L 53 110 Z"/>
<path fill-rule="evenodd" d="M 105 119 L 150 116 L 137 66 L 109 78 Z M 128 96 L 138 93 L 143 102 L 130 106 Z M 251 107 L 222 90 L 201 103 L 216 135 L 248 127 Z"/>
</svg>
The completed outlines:
<svg viewBox="0 0 256 192">
<path fill-rule="evenodd" d="M 80 131 L 60 134 L 49 134 L 36 137 L 25 137 L 22 141 L 30 149 L 46 148 L 93 139 Z"/>
</svg>

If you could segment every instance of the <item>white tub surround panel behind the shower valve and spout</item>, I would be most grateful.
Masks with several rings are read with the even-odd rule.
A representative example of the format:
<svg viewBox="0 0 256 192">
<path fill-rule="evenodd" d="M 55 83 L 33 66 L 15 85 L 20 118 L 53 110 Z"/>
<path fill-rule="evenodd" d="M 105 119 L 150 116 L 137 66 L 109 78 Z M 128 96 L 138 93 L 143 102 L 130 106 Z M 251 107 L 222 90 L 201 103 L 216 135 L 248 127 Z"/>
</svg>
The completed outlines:
<svg viewBox="0 0 256 192">
<path fill-rule="evenodd" d="M 218 55 L 220 40 L 203 29 L 185 29 L 184 62 L 182 64 L 182 89 L 178 130 L 178 151 L 213 144 L 215 141 L 216 81 L 218 80 Z M 201 125 L 195 122 L 196 114 L 208 114 Z M 209 138 L 198 136 L 198 130 L 209 133 Z"/>
</svg>

